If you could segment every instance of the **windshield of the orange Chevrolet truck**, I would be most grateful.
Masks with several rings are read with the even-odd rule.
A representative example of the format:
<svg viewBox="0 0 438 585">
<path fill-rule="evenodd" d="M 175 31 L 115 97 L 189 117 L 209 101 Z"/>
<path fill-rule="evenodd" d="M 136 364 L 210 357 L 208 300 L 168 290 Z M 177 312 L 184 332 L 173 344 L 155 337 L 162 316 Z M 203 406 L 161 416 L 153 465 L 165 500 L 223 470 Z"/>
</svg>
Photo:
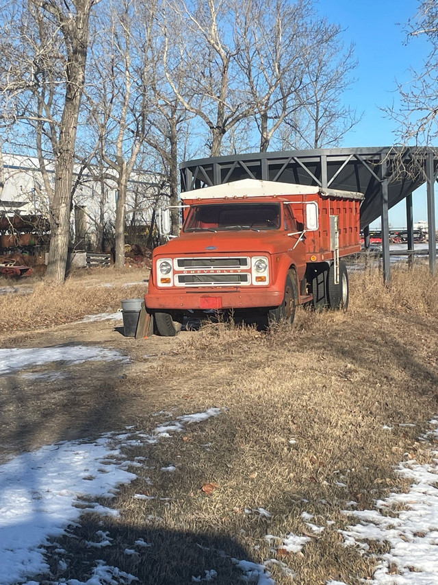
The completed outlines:
<svg viewBox="0 0 438 585">
<path fill-rule="evenodd" d="M 185 232 L 219 230 L 278 230 L 279 203 L 220 203 L 193 205 Z"/>
</svg>

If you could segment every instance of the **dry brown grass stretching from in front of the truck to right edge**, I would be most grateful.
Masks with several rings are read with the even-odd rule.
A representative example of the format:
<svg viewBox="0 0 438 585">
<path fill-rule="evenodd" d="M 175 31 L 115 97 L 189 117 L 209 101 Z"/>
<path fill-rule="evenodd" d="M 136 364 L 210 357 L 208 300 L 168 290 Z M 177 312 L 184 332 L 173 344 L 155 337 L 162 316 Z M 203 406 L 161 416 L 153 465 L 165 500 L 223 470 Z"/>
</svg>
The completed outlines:
<svg viewBox="0 0 438 585">
<path fill-rule="evenodd" d="M 420 269 L 392 276 L 384 287 L 378 274 L 353 274 L 348 312 L 300 309 L 292 329 L 280 324 L 259 333 L 209 323 L 165 346 L 159 339 L 133 346 L 138 359 L 145 351 L 157 359 L 127 370 L 118 393 L 101 396 L 103 412 L 105 400 L 109 409 L 117 404 L 124 425 L 145 430 L 166 420 L 153 411 L 171 410 L 172 420 L 209 407 L 223 413 L 127 450 L 146 461 L 111 504 L 120 518 L 84 518 L 78 538 L 61 542 L 72 569 L 59 576 L 86 580 L 88 563 L 102 558 L 141 584 L 185 585 L 216 569 L 216 584 L 234 585 L 241 575 L 235 557 L 279 561 L 269 566 L 279 585 L 353 585 L 371 577 L 375 558 L 343 546 L 338 531 L 349 519 L 342 510 L 352 500 L 372 508 L 389 490 L 407 488 L 394 466 L 405 457 L 428 460 L 428 445 L 417 438 L 438 403 L 437 280 Z M 177 471 L 166 475 L 160 469 L 169 464 Z M 201 491 L 208 482 L 219 486 L 211 495 Z M 156 499 L 136 500 L 136 492 Z M 259 507 L 272 518 L 253 512 Z M 302 512 L 324 527 L 302 553 L 284 555 L 279 543 L 268 544 L 267 534 L 311 534 Z M 87 549 L 85 540 L 99 529 L 110 531 L 114 545 Z M 129 558 L 125 548 L 137 538 L 153 547 Z M 372 553 L 385 546 L 374 543 Z M 58 575 L 55 556 L 51 565 Z"/>
</svg>

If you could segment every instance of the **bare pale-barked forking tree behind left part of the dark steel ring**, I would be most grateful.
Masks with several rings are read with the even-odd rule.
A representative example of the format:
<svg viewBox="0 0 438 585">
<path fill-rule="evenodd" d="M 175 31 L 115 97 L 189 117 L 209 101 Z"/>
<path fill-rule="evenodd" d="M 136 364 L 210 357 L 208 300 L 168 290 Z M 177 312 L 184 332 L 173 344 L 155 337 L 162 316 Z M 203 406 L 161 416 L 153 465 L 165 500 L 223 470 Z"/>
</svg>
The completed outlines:
<svg viewBox="0 0 438 585">
<path fill-rule="evenodd" d="M 190 4 L 170 0 L 162 19 L 168 83 L 184 108 L 209 129 L 211 156 L 221 154 L 224 135 L 254 111 L 242 88 L 236 60 L 240 48 L 236 44 L 235 8 L 226 0 L 194 0 Z M 185 87 L 196 90 L 192 99 L 184 95 L 169 71 L 172 52 L 184 63 Z"/>
</svg>

